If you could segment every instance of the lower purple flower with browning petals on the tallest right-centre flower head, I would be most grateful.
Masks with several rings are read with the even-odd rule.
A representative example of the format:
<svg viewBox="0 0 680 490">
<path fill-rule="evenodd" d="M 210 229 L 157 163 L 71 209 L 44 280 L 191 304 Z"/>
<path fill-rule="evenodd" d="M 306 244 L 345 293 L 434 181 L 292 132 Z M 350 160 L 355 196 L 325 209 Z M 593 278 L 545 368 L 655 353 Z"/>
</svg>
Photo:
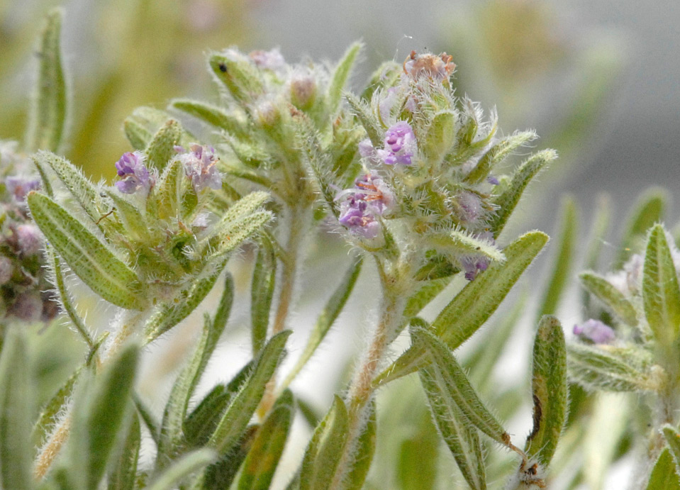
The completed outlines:
<svg viewBox="0 0 680 490">
<path fill-rule="evenodd" d="M 355 180 L 352 189 L 345 189 L 336 200 L 348 196 L 340 204 L 338 221 L 352 233 L 364 238 L 375 238 L 380 231 L 377 216 L 394 207 L 394 194 L 374 170 L 366 172 Z"/>
</svg>

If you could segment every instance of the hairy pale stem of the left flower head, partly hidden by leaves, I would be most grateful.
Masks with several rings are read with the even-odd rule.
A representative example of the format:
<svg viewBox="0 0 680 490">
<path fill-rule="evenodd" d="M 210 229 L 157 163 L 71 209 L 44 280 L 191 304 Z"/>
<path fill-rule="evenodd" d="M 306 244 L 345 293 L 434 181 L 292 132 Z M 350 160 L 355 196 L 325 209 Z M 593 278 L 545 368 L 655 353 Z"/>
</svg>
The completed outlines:
<svg viewBox="0 0 680 490">
<path fill-rule="evenodd" d="M 144 311 L 133 310 L 126 310 L 123 313 L 120 329 L 116 332 L 116 336 L 111 340 L 111 343 L 108 344 L 106 351 L 101 355 L 101 364 L 99 362 L 95 363 L 97 367 L 105 365 L 106 361 L 116 355 L 116 352 L 118 352 L 121 345 L 125 343 L 126 339 L 135 331 L 140 330 L 138 326 L 143 322 L 146 314 L 147 312 Z M 45 474 L 47 474 L 50 467 L 52 467 L 55 458 L 59 455 L 64 442 L 68 439 L 69 433 L 71 432 L 72 410 L 73 404 L 70 403 L 66 406 L 65 413 L 60 421 L 58 421 L 52 429 L 52 433 L 48 436 L 48 441 L 40 448 L 38 457 L 35 458 L 35 464 L 33 465 L 33 477 L 35 477 L 36 480 L 45 477 Z"/>
</svg>

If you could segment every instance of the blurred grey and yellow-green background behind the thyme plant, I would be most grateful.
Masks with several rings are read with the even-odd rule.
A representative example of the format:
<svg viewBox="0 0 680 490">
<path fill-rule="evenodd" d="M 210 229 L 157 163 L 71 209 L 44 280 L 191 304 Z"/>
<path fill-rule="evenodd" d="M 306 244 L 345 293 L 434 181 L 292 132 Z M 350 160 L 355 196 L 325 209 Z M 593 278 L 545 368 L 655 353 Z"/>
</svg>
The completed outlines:
<svg viewBox="0 0 680 490">
<path fill-rule="evenodd" d="M 35 72 L 35 39 L 43 14 L 55 5 L 62 5 L 66 12 L 62 48 L 72 80 L 65 155 L 94 179 L 111 179 L 113 163 L 129 150 L 122 122 L 133 108 L 165 108 L 169 99 L 178 96 L 216 96 L 205 69 L 208 50 L 238 45 L 247 52 L 279 46 L 291 62 L 303 57 L 337 60 L 347 45 L 362 39 L 366 48 L 354 77 L 356 87 L 384 60 L 401 62 L 411 50 L 445 51 L 457 64 L 459 94 L 481 101 L 487 109 L 495 105 L 504 133 L 536 128 L 541 135 L 537 146 L 557 149 L 557 165 L 532 186 L 530 199 L 520 207 L 514 229 L 506 236 L 531 228 L 553 236 L 563 193 L 574 195 L 581 208 L 581 235 L 603 191 L 611 194 L 617 233 L 617 223 L 625 217 L 628 205 L 648 186 L 665 186 L 676 201 L 680 193 L 680 6 L 675 1 L 657 0 L 642 8 L 635 1 L 606 0 L 0 0 L 0 139 L 23 139 L 30 96 L 27 87 Z M 335 283 L 319 274 L 321 266 L 330 269 L 331 260 L 341 271 L 347 263 L 346 247 L 335 237 L 311 240 L 310 247 L 311 260 L 302 283 L 313 286 L 305 289 L 314 292 L 301 296 L 294 317 L 296 324 L 304 325 L 303 331 Z M 542 257 L 544 262 L 552 253 Z M 240 274 L 247 296 L 247 252 L 237 262 L 232 267 Z M 547 267 L 540 263 L 533 273 L 545 272 Z M 349 311 L 317 355 L 335 360 L 327 364 L 333 370 L 325 369 L 317 359 L 299 379 L 298 389 L 308 393 L 308 401 L 319 413 L 325 411 L 330 394 L 346 376 L 337 366 L 350 369 L 362 350 L 363 332 L 372 325 L 372 299 L 361 291 L 370 291 L 373 279 L 370 270 L 362 272 Z M 453 284 L 452 288 L 461 286 Z M 536 296 L 535 289 L 525 287 Z M 572 302 L 560 311 L 567 329 L 580 321 L 578 308 Z M 432 309 L 436 311 L 435 306 Z M 507 316 L 507 310 L 496 317 Z M 232 322 L 247 325 L 246 318 L 247 303 Z M 497 390 L 508 379 L 515 383 L 526 379 L 524 355 L 530 341 L 525 333 L 533 328 L 533 318 L 529 320 L 511 340 L 515 355 L 506 359 L 511 369 L 496 376 L 489 390 Z M 495 318 L 492 323 L 499 321 Z M 174 339 L 190 335 L 191 328 L 189 321 Z M 216 379 L 228 379 L 240 359 L 245 359 L 247 328 L 237 328 L 235 335 L 233 343 L 223 346 L 223 364 L 213 369 L 211 379 L 204 380 L 206 388 Z M 304 335 L 296 336 L 302 343 Z M 158 379 L 172 382 L 169 374 L 186 344 L 173 343 L 171 338 L 157 348 L 157 359 L 165 362 L 147 363 L 147 385 L 142 389 L 147 386 L 151 393 Z M 51 372 L 47 364 L 41 369 Z M 58 377 L 53 372 L 45 376 L 46 384 L 50 384 L 49 376 Z M 380 437 L 383 447 L 398 447 L 386 450 L 387 458 L 411 457 L 409 464 L 418 468 L 434 464 L 428 458 L 436 460 L 436 454 L 423 449 L 433 440 L 427 412 L 403 402 L 404 393 L 418 396 L 416 386 L 413 379 L 386 390 L 382 403 L 394 409 L 385 417 L 402 428 L 401 438 L 389 442 L 386 436 Z M 528 385 L 523 389 L 523 411 L 515 414 L 521 422 L 514 433 L 520 435 L 530 428 Z M 505 402 L 514 403 L 509 400 Z M 162 406 L 161 401 L 158 404 Z M 304 423 L 297 425 L 301 433 L 308 431 Z M 296 457 L 291 456 L 291 461 Z M 399 468 L 408 467 L 402 463 Z M 618 481 L 625 481 L 626 464 L 619 464 L 623 476 Z M 445 481 L 433 481 L 432 486 L 423 480 L 409 481 L 407 470 L 390 473 L 389 467 L 389 461 L 376 462 L 371 479 L 374 488 L 449 488 Z M 609 488 L 620 488 L 612 481 Z M 391 483 L 381 486 L 376 482 Z"/>
</svg>

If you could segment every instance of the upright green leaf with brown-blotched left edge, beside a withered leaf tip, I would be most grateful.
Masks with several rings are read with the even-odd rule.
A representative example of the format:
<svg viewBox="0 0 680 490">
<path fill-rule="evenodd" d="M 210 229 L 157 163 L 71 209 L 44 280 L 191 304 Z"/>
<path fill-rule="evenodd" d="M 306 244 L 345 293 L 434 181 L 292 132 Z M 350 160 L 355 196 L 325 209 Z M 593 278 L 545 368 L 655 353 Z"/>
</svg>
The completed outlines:
<svg viewBox="0 0 680 490">
<path fill-rule="evenodd" d="M 527 438 L 525 452 L 547 466 L 562 435 L 569 405 L 567 346 L 562 325 L 554 316 L 543 316 L 538 324 L 531 390 L 534 425 Z"/>
</svg>

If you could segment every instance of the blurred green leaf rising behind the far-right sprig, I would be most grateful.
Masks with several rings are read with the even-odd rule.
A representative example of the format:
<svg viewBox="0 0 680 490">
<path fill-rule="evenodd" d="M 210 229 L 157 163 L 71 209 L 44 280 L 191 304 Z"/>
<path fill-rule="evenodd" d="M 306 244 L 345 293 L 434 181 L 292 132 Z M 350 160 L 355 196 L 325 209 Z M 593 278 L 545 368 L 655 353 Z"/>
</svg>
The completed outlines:
<svg viewBox="0 0 680 490">
<path fill-rule="evenodd" d="M 621 238 L 621 246 L 614 262 L 613 270 L 620 269 L 630 256 L 639 250 L 642 240 L 647 235 L 647 230 L 654 223 L 659 223 L 664 218 L 668 201 L 668 193 L 663 189 L 650 189 L 637 200 L 634 210 L 628 218 L 628 226 Z"/>
</svg>

